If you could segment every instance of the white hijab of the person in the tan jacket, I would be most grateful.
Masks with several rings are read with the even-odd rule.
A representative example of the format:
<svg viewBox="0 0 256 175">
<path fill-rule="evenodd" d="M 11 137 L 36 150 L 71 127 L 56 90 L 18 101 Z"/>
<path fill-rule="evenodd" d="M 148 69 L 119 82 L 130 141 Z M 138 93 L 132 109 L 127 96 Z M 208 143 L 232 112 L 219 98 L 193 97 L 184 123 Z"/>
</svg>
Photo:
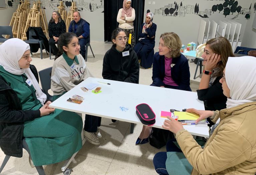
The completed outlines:
<svg viewBox="0 0 256 175">
<path fill-rule="evenodd" d="M 256 101 L 256 58 L 229 57 L 225 70 L 230 98 L 227 108 Z"/>
</svg>

